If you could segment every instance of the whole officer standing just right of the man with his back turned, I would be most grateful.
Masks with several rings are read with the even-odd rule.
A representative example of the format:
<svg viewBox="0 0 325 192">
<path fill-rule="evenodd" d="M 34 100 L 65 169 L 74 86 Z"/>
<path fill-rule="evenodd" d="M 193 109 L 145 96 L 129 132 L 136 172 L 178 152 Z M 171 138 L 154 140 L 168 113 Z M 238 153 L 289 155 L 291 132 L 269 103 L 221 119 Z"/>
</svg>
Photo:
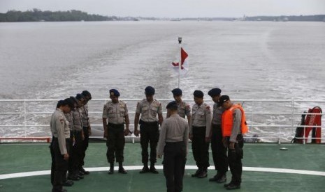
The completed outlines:
<svg viewBox="0 0 325 192">
<path fill-rule="evenodd" d="M 189 125 L 189 138 L 192 140 L 192 150 L 194 160 L 198 170 L 192 177 L 203 178 L 208 176 L 209 165 L 209 145 L 211 111 L 210 106 L 203 102 L 203 92 L 194 91 L 194 102 L 192 107 L 192 118 Z"/>
</svg>

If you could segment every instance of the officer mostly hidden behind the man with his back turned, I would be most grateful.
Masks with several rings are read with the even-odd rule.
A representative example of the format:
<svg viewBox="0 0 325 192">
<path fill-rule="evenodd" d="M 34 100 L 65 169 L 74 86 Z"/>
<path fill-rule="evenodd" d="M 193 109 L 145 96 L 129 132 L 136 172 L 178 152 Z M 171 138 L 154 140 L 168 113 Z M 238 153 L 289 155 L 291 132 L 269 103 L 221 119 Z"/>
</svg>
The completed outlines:
<svg viewBox="0 0 325 192">
<path fill-rule="evenodd" d="M 182 90 L 180 88 L 175 88 L 171 91 L 173 93 L 173 97 L 175 102 L 178 104 L 178 115 L 181 118 L 187 117 L 187 121 L 191 121 L 191 107 L 186 102 L 182 101 Z M 169 113 L 167 111 L 167 118 L 169 117 Z"/>
</svg>

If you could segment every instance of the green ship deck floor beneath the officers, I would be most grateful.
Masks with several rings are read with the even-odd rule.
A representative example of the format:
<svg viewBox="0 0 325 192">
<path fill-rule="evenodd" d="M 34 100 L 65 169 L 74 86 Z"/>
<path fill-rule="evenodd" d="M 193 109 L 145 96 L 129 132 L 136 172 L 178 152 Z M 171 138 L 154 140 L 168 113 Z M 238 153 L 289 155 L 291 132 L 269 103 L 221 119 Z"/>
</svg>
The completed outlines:
<svg viewBox="0 0 325 192">
<path fill-rule="evenodd" d="M 48 143 L 0 144 L 0 191 L 51 191 Z M 191 147 L 191 146 L 189 146 Z M 288 150 L 280 150 L 287 147 Z M 210 153 L 208 177 L 193 178 L 196 169 L 192 150 L 187 157 L 183 191 L 226 191 L 223 184 L 208 182 L 215 175 Z M 85 159 L 85 176 L 68 191 L 166 191 L 161 159 L 159 174 L 139 174 L 140 144 L 127 143 L 124 149 L 127 175 L 108 175 L 106 143 L 90 143 Z M 115 169 L 116 170 L 116 169 Z M 228 182 L 231 179 L 227 173 Z M 243 183 L 237 191 L 325 191 L 325 145 L 246 143 Z"/>
</svg>

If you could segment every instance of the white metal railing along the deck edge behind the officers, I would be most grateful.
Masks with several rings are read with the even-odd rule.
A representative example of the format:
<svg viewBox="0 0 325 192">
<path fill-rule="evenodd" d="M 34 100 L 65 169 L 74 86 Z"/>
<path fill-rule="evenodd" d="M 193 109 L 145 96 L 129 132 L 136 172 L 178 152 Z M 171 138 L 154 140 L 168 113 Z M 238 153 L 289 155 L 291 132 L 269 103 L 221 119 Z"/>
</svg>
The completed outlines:
<svg viewBox="0 0 325 192">
<path fill-rule="evenodd" d="M 16 128 L 22 128 L 24 130 L 24 136 L 22 138 L 27 138 L 27 127 L 49 127 L 49 120 L 48 122 L 41 123 L 37 122 L 35 125 L 31 124 L 31 120 L 27 120 L 27 115 L 47 115 L 50 118 L 50 114 L 53 113 L 53 110 L 55 108 L 56 102 L 58 99 L 0 99 L 0 129 L 8 128 L 8 127 L 16 127 Z M 136 102 L 140 101 L 140 99 L 122 99 L 123 101 L 128 103 L 129 110 L 129 116 L 130 116 L 130 122 L 133 122 L 132 115 L 135 113 L 136 108 Z M 162 103 L 167 103 L 173 99 L 157 99 Z M 303 111 L 307 111 L 308 108 L 312 108 L 314 106 L 321 106 L 325 104 L 325 101 L 322 100 L 294 100 L 294 99 L 232 99 L 233 102 L 241 102 L 244 105 L 245 113 L 247 116 L 247 122 L 250 129 L 250 134 L 245 136 L 245 138 L 253 138 L 254 134 L 262 134 L 261 132 L 257 131 L 256 129 L 263 128 L 268 129 L 269 133 L 272 133 L 271 136 L 259 136 L 261 139 L 275 139 L 278 143 L 281 141 L 288 141 L 288 136 L 284 136 L 283 134 L 286 133 L 291 134 L 291 138 L 294 138 L 294 131 L 296 130 L 298 122 L 301 120 L 302 114 L 319 114 L 319 113 L 303 113 Z M 100 127 L 102 129 L 103 125 L 101 124 L 101 113 L 102 111 L 98 111 L 99 109 L 102 109 L 103 104 L 107 102 L 108 99 L 92 99 L 89 102 L 89 116 L 92 122 L 92 127 Z M 192 99 L 184 99 L 185 102 L 189 102 L 189 104 L 194 104 L 194 101 Z M 129 104 L 132 103 L 133 104 Z M 205 102 L 210 104 L 212 106 L 212 101 L 205 99 Z M 10 103 L 10 104 L 8 104 Z M 38 104 L 40 107 L 32 108 L 32 110 L 29 110 L 31 106 L 35 105 L 35 103 Z M 278 106 L 276 104 L 281 103 L 281 106 Z M 7 104 L 7 105 L 6 105 Z M 15 107 L 14 104 L 18 104 Z M 284 104 L 284 106 L 283 106 Z M 307 106 L 307 104 L 309 104 Z M 285 106 L 287 105 L 287 106 Z M 166 106 L 166 105 L 165 105 Z M 272 111 L 270 108 L 279 108 L 283 111 Z M 37 110 L 36 110 L 37 109 Z M 39 109 L 47 109 L 46 111 L 38 111 Z M 9 110 L 9 111 L 7 111 Z M 166 110 L 163 107 L 164 113 L 166 113 Z M 324 114 L 324 113 L 322 113 Z M 6 120 L 6 117 L 13 117 L 13 116 L 20 116 L 22 118 L 23 115 L 23 122 L 21 123 L 13 123 L 17 122 L 15 120 L 9 121 L 10 123 L 3 124 L 3 122 L 8 122 Z M 92 118 L 92 115 L 96 116 L 96 118 Z M 264 117 L 263 117 L 264 116 Z M 265 117 L 266 116 L 266 117 Z M 263 123 L 267 118 L 270 117 L 277 117 L 277 118 L 284 118 L 284 116 L 287 116 L 284 118 L 286 122 L 289 123 L 282 123 L 282 121 L 277 122 L 277 120 L 269 120 L 270 123 L 266 124 Z M 324 121 L 324 120 L 323 120 Z M 100 122 L 100 123 L 99 123 Z M 300 126 L 299 127 L 321 127 L 324 129 L 324 123 L 323 126 Z M 133 131 L 133 125 L 130 124 L 130 129 Z M 288 131 L 289 129 L 289 131 Z M 49 129 L 48 129 L 49 130 Z M 285 130 L 285 131 L 284 131 Z M 2 130 L 2 132 L 6 132 L 6 130 Z M 0 132 L 1 133 L 1 132 Z M 49 132 L 44 131 L 44 136 L 49 136 Z M 20 136 L 21 137 L 21 136 Z M 92 136 L 94 138 L 102 138 L 102 136 Z M 0 135 L 1 138 L 1 135 Z M 134 142 L 136 136 L 134 134 L 131 134 L 131 136 L 127 136 L 127 138 L 131 138 L 131 140 Z M 324 141 L 324 134 L 322 135 L 321 139 Z M 305 136 L 303 138 L 303 141 L 305 141 Z M 309 139 L 313 139 L 310 138 Z M 324 142 L 323 142 L 324 143 Z"/>
</svg>

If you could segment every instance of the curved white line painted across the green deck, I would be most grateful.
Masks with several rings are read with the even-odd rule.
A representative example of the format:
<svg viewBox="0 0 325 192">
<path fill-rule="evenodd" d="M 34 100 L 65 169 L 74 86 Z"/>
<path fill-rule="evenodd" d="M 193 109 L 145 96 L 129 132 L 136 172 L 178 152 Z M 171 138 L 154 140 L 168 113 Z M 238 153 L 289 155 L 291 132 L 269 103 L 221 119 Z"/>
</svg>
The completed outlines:
<svg viewBox="0 0 325 192">
<path fill-rule="evenodd" d="M 124 166 L 126 170 L 140 170 L 143 166 Z M 157 169 L 162 169 L 163 166 L 156 166 Z M 96 167 L 96 168 L 85 168 L 88 171 L 108 171 L 108 167 Z M 187 170 L 196 170 L 196 166 L 185 166 Z M 214 170 L 213 166 L 208 168 L 209 170 Z M 115 170 L 118 170 L 118 167 L 115 166 Z M 325 176 L 324 171 L 315 171 L 315 170 L 296 170 L 296 169 L 288 169 L 288 168 L 255 168 L 255 167 L 243 167 L 245 171 L 257 171 L 257 172 L 270 172 L 270 173 L 292 173 L 292 174 L 302 174 L 302 175 L 318 175 Z M 10 179 L 17 177 L 30 177 L 30 176 L 38 176 L 38 175 L 50 175 L 50 170 L 40 170 L 40 171 L 29 171 L 22 173 L 10 173 L 0 175 L 0 179 Z"/>
</svg>

